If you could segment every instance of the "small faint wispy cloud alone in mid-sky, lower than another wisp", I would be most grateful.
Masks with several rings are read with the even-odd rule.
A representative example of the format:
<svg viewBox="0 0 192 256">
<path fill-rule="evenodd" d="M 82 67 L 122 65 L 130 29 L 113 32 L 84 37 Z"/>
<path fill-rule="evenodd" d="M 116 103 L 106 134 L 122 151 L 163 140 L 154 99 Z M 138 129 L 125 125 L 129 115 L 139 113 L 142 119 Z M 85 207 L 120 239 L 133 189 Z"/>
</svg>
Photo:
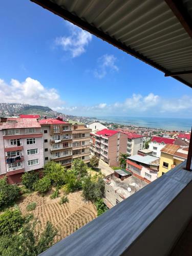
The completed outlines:
<svg viewBox="0 0 192 256">
<path fill-rule="evenodd" d="M 114 55 L 105 54 L 98 58 L 98 67 L 94 70 L 94 76 L 101 79 L 108 72 L 118 71 L 115 65 L 116 57 Z"/>
</svg>

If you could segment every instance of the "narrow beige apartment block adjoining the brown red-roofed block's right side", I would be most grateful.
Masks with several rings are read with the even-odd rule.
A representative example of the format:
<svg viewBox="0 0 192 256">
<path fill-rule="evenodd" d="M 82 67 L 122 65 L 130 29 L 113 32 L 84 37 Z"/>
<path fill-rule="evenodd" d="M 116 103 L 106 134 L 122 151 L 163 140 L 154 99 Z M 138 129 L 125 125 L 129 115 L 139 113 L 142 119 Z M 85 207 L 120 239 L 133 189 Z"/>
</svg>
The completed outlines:
<svg viewBox="0 0 192 256">
<path fill-rule="evenodd" d="M 80 158 L 85 163 L 90 162 L 90 132 L 84 123 L 69 120 L 72 123 L 73 160 Z"/>
</svg>

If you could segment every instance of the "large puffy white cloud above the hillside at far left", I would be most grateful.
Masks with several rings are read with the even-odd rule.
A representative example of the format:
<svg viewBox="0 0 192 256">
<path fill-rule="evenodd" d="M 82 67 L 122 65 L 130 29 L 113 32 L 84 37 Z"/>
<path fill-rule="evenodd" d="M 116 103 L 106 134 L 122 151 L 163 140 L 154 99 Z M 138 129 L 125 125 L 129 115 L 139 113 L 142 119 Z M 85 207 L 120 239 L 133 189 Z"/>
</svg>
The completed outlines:
<svg viewBox="0 0 192 256">
<path fill-rule="evenodd" d="M 0 102 L 58 106 L 65 102 L 54 88 L 45 88 L 38 80 L 27 77 L 24 82 L 11 79 L 7 84 L 0 79 Z"/>
</svg>

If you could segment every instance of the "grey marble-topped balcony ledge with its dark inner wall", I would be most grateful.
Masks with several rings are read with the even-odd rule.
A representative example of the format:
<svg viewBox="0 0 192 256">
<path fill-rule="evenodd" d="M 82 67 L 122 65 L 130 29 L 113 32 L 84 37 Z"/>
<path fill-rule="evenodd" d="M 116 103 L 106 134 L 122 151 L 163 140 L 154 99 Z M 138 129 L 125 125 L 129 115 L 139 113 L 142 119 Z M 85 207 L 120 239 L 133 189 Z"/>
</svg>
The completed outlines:
<svg viewBox="0 0 192 256">
<path fill-rule="evenodd" d="M 192 216 L 185 163 L 40 255 L 168 255 Z"/>
</svg>

